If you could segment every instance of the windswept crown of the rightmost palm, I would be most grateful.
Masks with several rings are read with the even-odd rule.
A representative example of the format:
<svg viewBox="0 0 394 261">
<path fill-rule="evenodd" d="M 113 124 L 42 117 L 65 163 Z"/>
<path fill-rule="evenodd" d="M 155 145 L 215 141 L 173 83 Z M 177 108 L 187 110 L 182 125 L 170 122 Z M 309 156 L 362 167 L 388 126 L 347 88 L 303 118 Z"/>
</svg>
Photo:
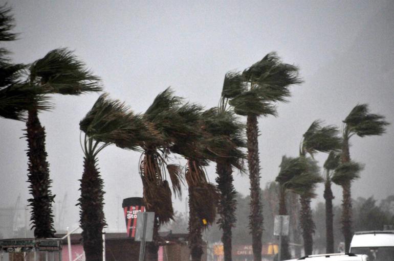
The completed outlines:
<svg viewBox="0 0 394 261">
<path fill-rule="evenodd" d="M 355 133 L 360 137 L 381 135 L 385 132 L 384 116 L 369 113 L 367 104 L 358 104 L 343 121 L 350 134 Z"/>
</svg>

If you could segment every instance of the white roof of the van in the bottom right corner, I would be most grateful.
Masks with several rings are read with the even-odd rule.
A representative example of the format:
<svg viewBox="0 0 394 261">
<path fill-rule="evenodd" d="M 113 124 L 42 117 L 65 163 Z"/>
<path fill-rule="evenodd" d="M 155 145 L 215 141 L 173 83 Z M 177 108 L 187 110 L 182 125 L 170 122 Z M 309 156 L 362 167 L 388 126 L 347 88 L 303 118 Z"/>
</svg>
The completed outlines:
<svg viewBox="0 0 394 261">
<path fill-rule="evenodd" d="M 392 247 L 394 231 L 360 231 L 353 236 L 351 248 L 355 247 Z"/>
</svg>

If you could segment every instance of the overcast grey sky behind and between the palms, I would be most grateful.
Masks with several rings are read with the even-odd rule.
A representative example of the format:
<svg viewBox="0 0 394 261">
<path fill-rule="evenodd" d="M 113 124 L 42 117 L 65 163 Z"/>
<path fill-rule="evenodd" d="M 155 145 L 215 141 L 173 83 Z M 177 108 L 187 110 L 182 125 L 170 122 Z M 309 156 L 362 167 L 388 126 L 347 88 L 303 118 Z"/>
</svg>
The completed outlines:
<svg viewBox="0 0 394 261">
<path fill-rule="evenodd" d="M 178 96 L 216 106 L 223 78 L 276 51 L 296 64 L 305 83 L 278 105 L 279 116 L 260 118 L 261 186 L 273 181 L 281 156 L 296 156 L 302 133 L 316 119 L 341 126 L 357 103 L 394 122 L 393 1 L 13 1 L 19 40 L 7 47 L 15 62 L 30 63 L 68 47 L 102 78 L 111 98 L 144 112 L 172 86 Z M 63 227 L 78 225 L 83 154 L 79 121 L 99 94 L 54 96 L 55 109 L 40 114 L 56 194 L 64 201 Z M 24 123 L 0 118 L 0 204 L 17 195 L 27 203 Z M 352 159 L 365 164 L 354 197 L 394 193 L 394 127 L 380 137 L 353 137 Z M 139 154 L 108 147 L 99 154 L 109 231 L 125 231 L 121 200 L 142 196 Z M 320 164 L 326 155 L 318 155 Z M 214 168 L 208 168 L 214 181 Z M 248 194 L 247 176 L 235 178 Z M 322 201 L 322 188 L 318 189 Z M 336 203 L 341 189 L 334 188 Z M 174 200 L 179 211 L 185 203 Z M 58 220 L 55 210 L 55 221 Z M 117 217 L 120 220 L 117 223 Z"/>
</svg>

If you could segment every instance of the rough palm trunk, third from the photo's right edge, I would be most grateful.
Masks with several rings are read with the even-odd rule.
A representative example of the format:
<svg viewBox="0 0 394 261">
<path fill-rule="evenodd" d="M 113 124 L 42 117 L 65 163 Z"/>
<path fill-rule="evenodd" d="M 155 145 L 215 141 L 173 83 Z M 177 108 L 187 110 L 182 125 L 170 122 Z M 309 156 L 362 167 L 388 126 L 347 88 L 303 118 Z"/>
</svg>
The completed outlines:
<svg viewBox="0 0 394 261">
<path fill-rule="evenodd" d="M 311 198 L 301 196 L 301 228 L 302 238 L 304 240 L 305 255 L 311 255 L 313 251 L 313 238 L 312 234 L 315 233 L 315 223 L 312 220 Z"/>
</svg>

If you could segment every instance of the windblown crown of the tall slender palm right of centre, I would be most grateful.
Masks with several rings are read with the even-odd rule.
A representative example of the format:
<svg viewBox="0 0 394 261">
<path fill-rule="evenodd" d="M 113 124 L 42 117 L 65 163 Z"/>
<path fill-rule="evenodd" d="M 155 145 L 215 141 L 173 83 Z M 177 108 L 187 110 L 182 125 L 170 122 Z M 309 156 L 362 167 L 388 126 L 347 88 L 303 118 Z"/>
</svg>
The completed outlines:
<svg viewBox="0 0 394 261">
<path fill-rule="evenodd" d="M 239 115 L 276 115 L 273 102 L 286 102 L 289 86 L 300 84 L 298 68 L 282 63 L 276 53 L 269 53 L 244 72 L 226 74 L 223 100 L 229 99 Z"/>
</svg>

